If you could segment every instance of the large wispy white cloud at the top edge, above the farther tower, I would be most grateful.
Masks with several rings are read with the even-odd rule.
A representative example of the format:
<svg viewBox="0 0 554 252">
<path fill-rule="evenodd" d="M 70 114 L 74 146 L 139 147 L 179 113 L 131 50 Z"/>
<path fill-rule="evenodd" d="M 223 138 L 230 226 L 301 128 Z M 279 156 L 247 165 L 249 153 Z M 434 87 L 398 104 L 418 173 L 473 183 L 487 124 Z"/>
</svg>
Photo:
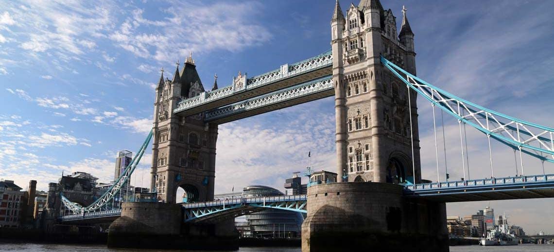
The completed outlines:
<svg viewBox="0 0 554 252">
<path fill-rule="evenodd" d="M 211 50 L 242 50 L 267 42 L 271 33 L 255 22 L 252 16 L 241 13 L 255 13 L 263 8 L 258 3 L 214 4 L 172 2 L 167 9 L 167 18 L 151 20 L 152 9 L 134 9 L 133 20 L 120 25 L 109 38 L 121 48 L 141 58 L 157 61 L 175 60 L 175 52 L 209 52 Z M 147 12 L 147 13 L 145 13 Z M 213 15 L 213 13 L 219 13 Z M 140 27 L 155 27 L 156 32 L 145 32 Z M 163 30 L 163 32 L 160 32 Z M 196 34 L 194 36 L 187 34 Z M 150 73 L 147 66 L 139 70 Z"/>
</svg>

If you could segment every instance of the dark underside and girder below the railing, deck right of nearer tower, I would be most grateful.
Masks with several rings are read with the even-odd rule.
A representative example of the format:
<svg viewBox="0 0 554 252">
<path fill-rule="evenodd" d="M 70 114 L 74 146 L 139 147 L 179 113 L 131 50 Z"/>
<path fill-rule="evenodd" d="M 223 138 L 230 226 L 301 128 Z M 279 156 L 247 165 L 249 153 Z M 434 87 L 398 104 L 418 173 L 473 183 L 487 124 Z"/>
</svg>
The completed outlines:
<svg viewBox="0 0 554 252">
<path fill-rule="evenodd" d="M 416 192 L 406 191 L 406 197 L 422 197 L 438 202 L 554 198 L 554 183 L 430 189 Z"/>
</svg>

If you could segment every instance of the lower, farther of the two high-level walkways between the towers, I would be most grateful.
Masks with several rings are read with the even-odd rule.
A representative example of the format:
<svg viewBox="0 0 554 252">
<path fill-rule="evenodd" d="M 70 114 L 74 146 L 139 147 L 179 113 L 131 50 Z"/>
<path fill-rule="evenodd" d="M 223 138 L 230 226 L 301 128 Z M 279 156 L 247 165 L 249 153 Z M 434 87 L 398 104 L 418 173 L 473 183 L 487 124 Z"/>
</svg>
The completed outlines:
<svg viewBox="0 0 554 252">
<path fill-rule="evenodd" d="M 206 121 L 213 121 L 233 114 L 258 109 L 260 107 L 277 104 L 279 102 L 297 99 L 302 96 L 312 95 L 333 89 L 332 76 L 323 76 L 320 79 L 307 83 L 291 86 L 283 90 L 271 92 L 270 94 L 244 100 L 236 104 L 220 107 L 206 112 Z"/>
</svg>

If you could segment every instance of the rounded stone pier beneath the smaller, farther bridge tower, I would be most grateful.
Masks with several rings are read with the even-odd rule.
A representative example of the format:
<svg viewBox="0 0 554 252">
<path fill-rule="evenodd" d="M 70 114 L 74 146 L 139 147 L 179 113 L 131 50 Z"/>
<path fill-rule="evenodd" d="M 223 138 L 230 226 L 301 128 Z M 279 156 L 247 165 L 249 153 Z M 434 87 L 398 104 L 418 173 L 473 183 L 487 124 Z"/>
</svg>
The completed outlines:
<svg viewBox="0 0 554 252">
<path fill-rule="evenodd" d="M 217 224 L 185 224 L 181 205 L 123 203 L 121 217 L 111 225 L 110 248 L 236 250 L 234 219 Z"/>
</svg>

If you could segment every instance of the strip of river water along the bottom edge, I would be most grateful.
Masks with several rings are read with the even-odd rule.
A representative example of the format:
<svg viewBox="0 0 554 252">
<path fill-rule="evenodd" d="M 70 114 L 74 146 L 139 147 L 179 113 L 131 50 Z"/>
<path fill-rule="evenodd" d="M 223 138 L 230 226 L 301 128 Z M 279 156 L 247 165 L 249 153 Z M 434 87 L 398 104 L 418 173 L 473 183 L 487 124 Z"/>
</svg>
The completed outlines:
<svg viewBox="0 0 554 252">
<path fill-rule="evenodd" d="M 66 244 L 35 244 L 35 243 L 0 243 L 0 251 L 76 251 L 76 252 L 106 252 L 106 251 L 136 251 L 135 249 L 109 249 L 106 245 L 66 245 Z M 193 250 L 140 250 L 140 252 L 153 251 L 187 251 Z M 299 247 L 294 248 L 248 248 L 242 247 L 240 252 L 299 252 Z M 360 250 L 361 251 L 361 250 Z M 551 252 L 554 251 L 554 245 L 550 244 L 521 244 L 517 246 L 451 246 L 450 252 Z M 207 251 L 202 251 L 207 252 Z"/>
</svg>

